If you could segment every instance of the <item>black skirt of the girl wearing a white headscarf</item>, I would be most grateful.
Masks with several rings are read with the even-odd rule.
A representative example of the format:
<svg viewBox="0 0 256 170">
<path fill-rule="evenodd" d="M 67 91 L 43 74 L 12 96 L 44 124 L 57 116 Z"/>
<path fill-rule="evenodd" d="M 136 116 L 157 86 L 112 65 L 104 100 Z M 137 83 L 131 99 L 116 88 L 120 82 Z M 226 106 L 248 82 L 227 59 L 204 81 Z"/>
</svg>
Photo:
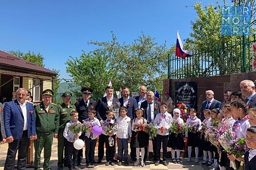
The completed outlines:
<svg viewBox="0 0 256 170">
<path fill-rule="evenodd" d="M 169 135 L 167 147 L 177 150 L 183 150 L 185 146 L 183 134 L 171 133 Z"/>
</svg>

